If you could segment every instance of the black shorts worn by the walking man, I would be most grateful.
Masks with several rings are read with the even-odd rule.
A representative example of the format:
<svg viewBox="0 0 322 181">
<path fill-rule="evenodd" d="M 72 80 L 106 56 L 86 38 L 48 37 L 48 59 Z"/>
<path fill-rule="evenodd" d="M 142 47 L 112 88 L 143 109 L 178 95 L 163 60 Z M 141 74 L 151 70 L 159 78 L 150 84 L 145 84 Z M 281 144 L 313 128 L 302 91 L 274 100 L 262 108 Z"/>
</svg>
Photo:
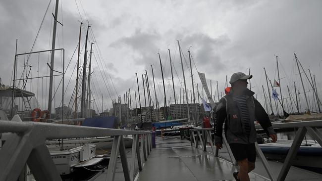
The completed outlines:
<svg viewBox="0 0 322 181">
<path fill-rule="evenodd" d="M 251 143 L 251 144 L 231 143 L 229 144 L 229 146 L 236 161 L 241 161 L 247 158 L 248 161 L 255 163 L 256 161 L 255 143 Z"/>
</svg>

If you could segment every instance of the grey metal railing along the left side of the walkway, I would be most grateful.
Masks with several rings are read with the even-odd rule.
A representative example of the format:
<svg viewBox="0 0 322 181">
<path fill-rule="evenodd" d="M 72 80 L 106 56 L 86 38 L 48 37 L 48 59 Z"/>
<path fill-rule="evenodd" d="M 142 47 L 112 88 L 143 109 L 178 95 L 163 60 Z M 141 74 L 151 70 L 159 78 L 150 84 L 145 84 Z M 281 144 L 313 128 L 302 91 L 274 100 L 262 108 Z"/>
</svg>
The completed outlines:
<svg viewBox="0 0 322 181">
<path fill-rule="evenodd" d="M 13 133 L 0 150 L 0 181 L 16 181 L 27 163 L 37 181 L 61 181 L 47 139 L 113 136 L 113 144 L 107 169 L 107 180 L 113 181 L 118 154 L 125 181 L 135 178 L 135 156 L 139 171 L 152 151 L 151 132 L 127 131 L 39 122 L 12 122 L 0 120 L 0 133 Z M 128 166 L 123 136 L 132 135 L 132 154 Z M 139 135 L 141 141 L 139 145 Z"/>
</svg>

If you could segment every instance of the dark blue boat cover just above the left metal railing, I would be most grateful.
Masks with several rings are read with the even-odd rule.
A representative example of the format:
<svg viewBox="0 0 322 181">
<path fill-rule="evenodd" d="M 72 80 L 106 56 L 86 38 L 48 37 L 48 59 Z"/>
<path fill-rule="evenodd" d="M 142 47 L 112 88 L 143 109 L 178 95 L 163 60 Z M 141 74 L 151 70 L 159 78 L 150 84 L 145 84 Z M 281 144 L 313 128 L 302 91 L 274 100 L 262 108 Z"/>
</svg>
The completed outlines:
<svg viewBox="0 0 322 181">
<path fill-rule="evenodd" d="M 85 118 L 82 126 L 98 128 L 117 128 L 117 120 L 114 116 L 104 116 L 97 118 Z"/>
</svg>

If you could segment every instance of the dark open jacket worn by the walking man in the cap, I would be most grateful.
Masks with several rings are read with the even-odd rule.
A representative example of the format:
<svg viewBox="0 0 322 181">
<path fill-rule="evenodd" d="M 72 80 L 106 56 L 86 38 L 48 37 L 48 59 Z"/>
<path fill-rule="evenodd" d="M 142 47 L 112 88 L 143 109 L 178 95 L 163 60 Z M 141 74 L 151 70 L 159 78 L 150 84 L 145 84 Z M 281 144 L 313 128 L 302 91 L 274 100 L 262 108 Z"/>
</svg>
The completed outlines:
<svg viewBox="0 0 322 181">
<path fill-rule="evenodd" d="M 225 136 L 228 143 L 250 144 L 256 142 L 255 121 L 258 121 L 268 135 L 275 135 L 268 114 L 262 107 L 261 103 L 255 99 L 254 92 L 245 90 L 246 104 L 250 117 L 250 133 L 245 135 L 243 118 L 240 114 L 239 105 L 232 98 L 233 91 L 222 97 L 218 103 L 215 113 L 215 143 L 222 144 L 222 125 L 225 122 Z"/>
</svg>

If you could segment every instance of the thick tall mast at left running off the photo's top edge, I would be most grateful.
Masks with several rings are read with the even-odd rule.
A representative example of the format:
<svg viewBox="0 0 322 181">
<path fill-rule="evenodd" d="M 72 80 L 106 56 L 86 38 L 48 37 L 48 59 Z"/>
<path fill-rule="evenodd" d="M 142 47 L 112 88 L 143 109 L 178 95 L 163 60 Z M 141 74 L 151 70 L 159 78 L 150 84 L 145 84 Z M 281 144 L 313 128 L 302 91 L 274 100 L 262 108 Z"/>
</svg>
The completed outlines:
<svg viewBox="0 0 322 181">
<path fill-rule="evenodd" d="M 57 17 L 58 17 L 58 0 L 56 0 L 55 15 L 54 16 L 55 17 L 54 17 L 52 49 L 55 49 L 55 42 L 56 42 L 56 27 L 57 27 Z M 55 57 L 55 51 L 52 50 L 51 68 L 50 68 L 51 72 L 50 72 L 50 78 L 49 78 L 49 94 L 48 94 L 49 118 L 51 118 L 51 116 L 52 116 L 54 57 Z M 62 105 L 62 106 L 64 106 L 64 105 Z"/>
</svg>

